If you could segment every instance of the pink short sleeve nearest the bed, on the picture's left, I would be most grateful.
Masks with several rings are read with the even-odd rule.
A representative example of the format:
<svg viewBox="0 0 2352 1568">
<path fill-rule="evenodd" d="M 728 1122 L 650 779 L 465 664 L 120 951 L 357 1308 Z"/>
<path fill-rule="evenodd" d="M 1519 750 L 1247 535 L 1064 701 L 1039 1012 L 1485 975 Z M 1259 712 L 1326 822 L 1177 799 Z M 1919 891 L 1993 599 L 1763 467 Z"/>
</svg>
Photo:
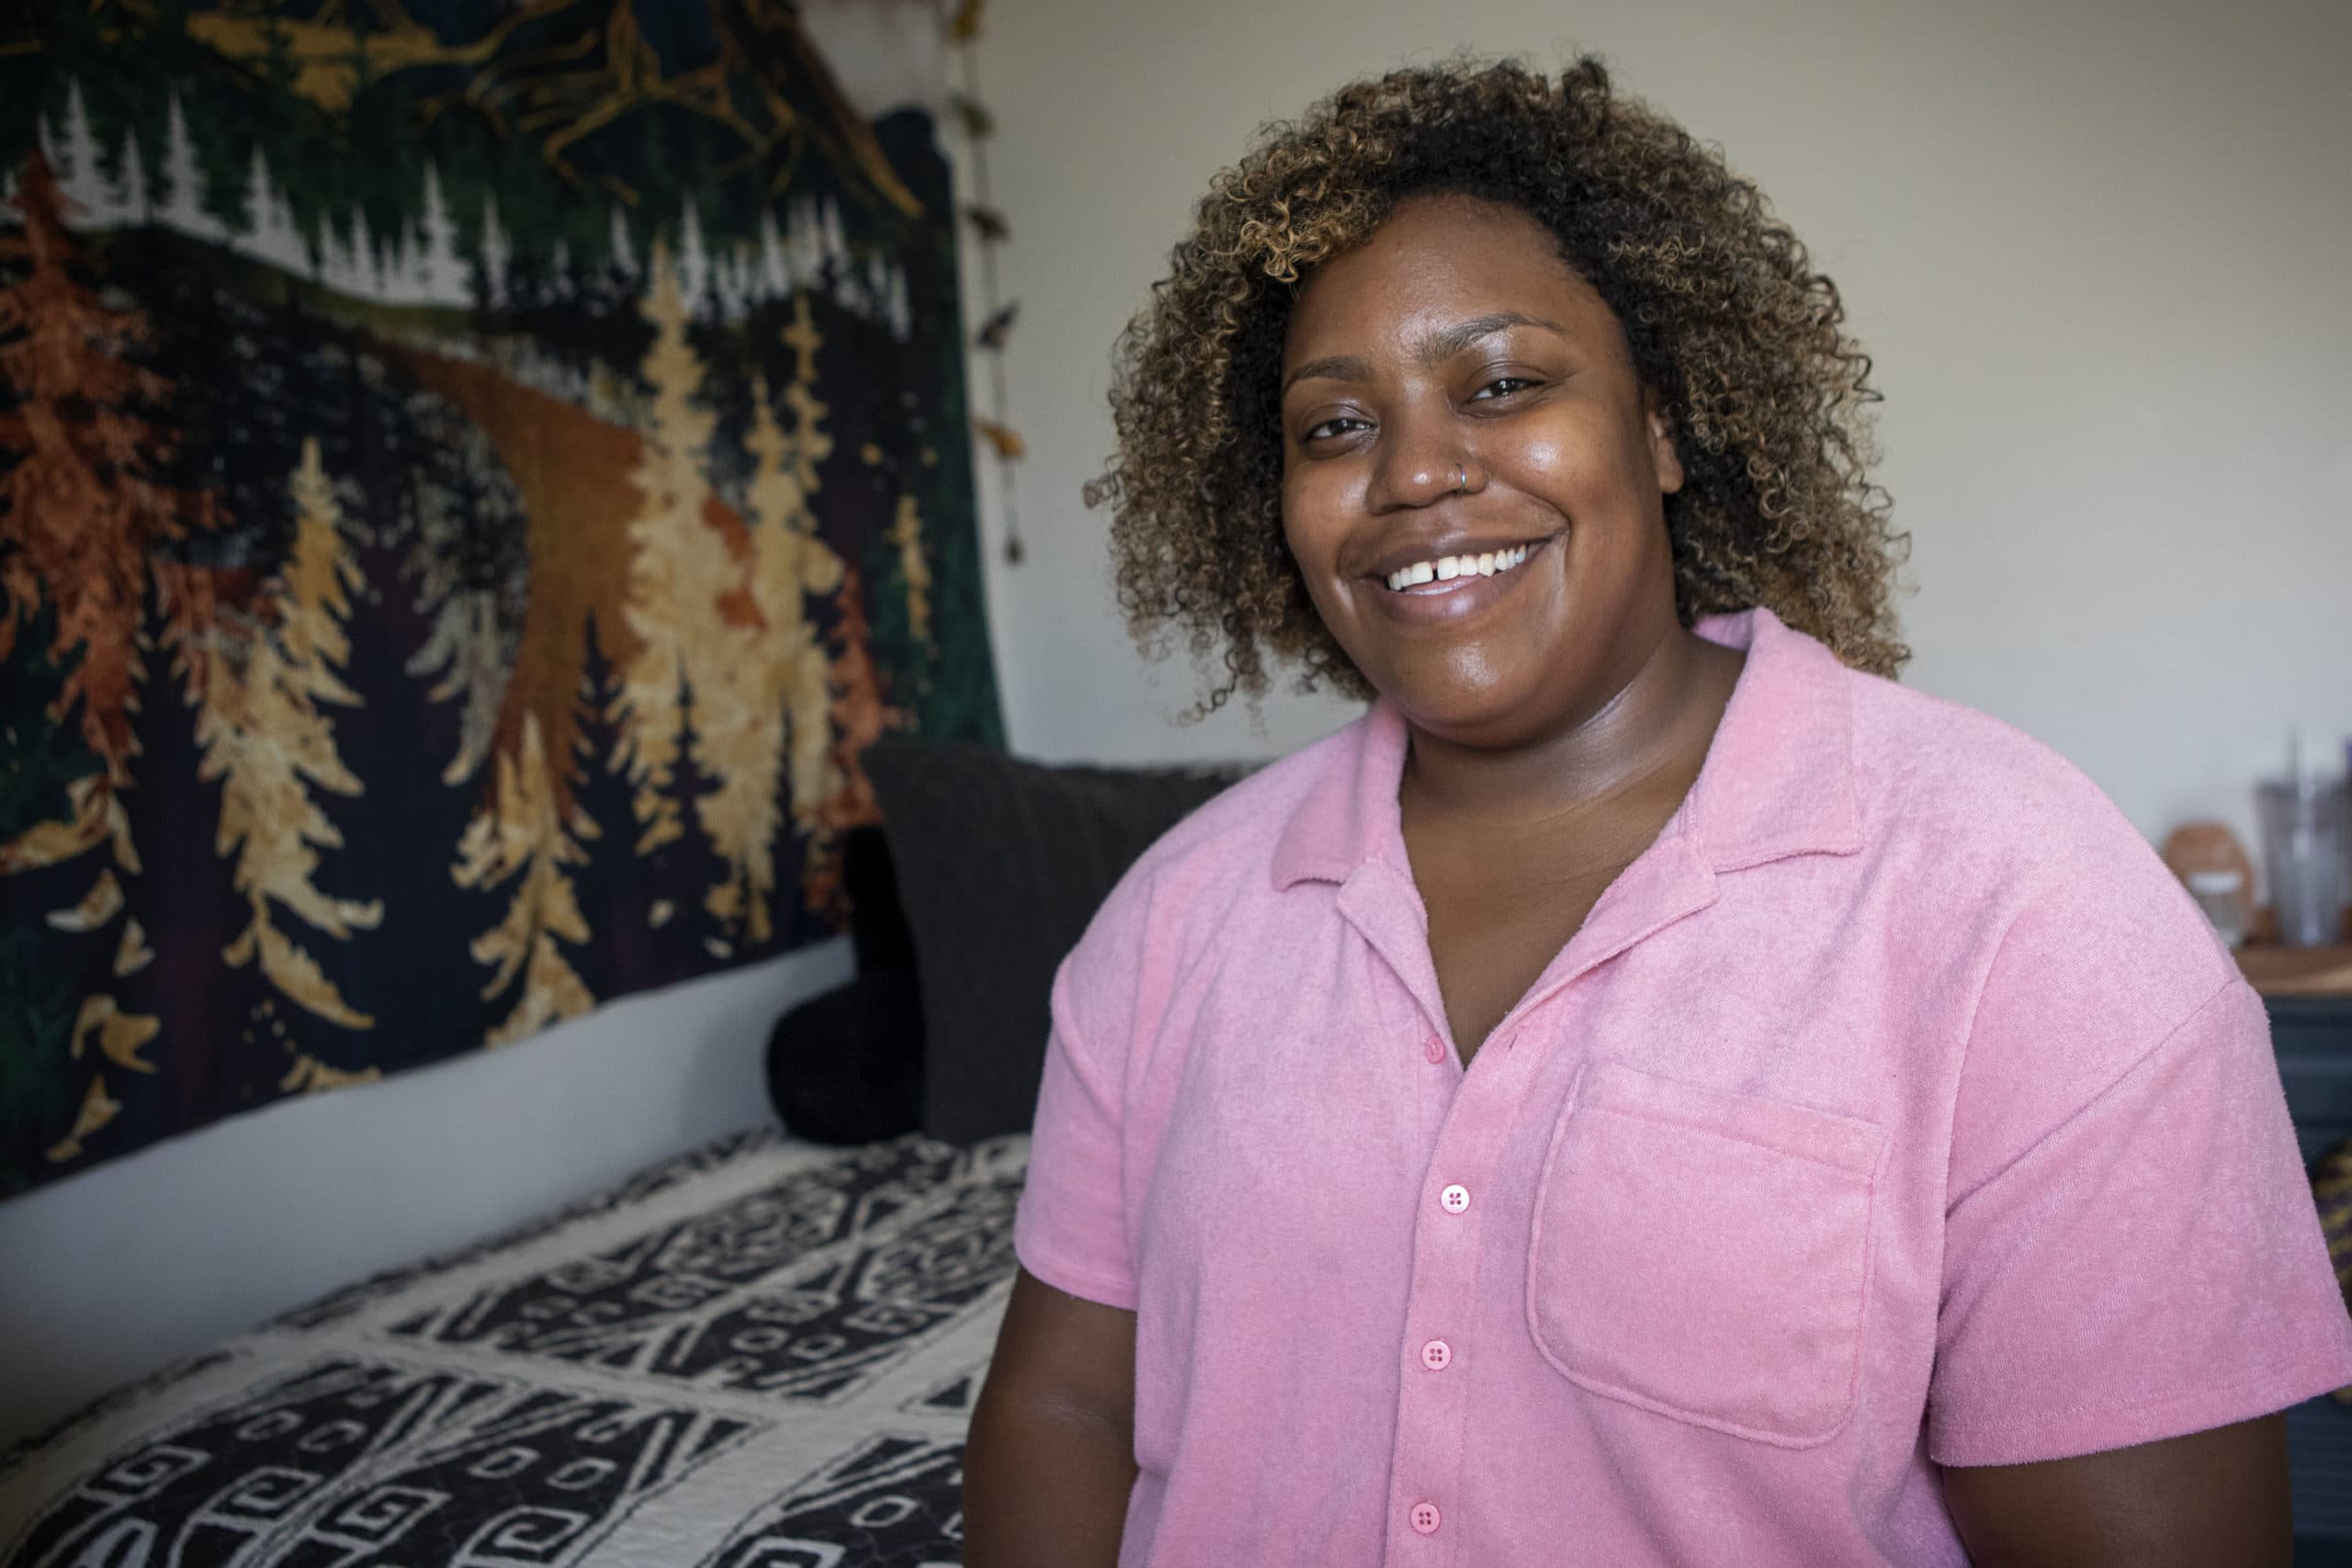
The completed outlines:
<svg viewBox="0 0 2352 1568">
<path fill-rule="evenodd" d="M 1122 903 L 1120 896 L 1112 896 Z M 1070 1295 L 1136 1307 L 1134 1248 L 1124 1199 L 1124 1079 L 1131 1009 L 1089 1006 L 1131 994 L 1117 926 L 1105 907 L 1087 940 L 1054 973 L 1054 1032 L 1037 1086 L 1028 1182 L 1014 1215 L 1021 1267 Z"/>
</svg>

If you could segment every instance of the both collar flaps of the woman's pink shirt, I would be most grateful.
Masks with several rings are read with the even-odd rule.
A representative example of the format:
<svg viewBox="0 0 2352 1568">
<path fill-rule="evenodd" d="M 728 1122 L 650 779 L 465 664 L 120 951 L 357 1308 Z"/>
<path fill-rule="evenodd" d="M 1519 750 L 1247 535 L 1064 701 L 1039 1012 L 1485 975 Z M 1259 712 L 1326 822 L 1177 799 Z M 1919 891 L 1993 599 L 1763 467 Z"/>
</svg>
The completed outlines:
<svg viewBox="0 0 2352 1568">
<path fill-rule="evenodd" d="M 1837 656 L 1788 630 L 1769 609 L 1708 616 L 1698 635 L 1748 651 L 1731 705 L 1698 783 L 1665 837 L 1708 872 L 1785 856 L 1851 856 L 1863 849 L 1853 802 L 1853 698 Z M 1275 844 L 1277 889 L 1348 882 L 1369 860 L 1404 867 L 1397 780 L 1404 719 L 1374 703 L 1357 731 L 1355 766 L 1327 769 Z"/>
</svg>

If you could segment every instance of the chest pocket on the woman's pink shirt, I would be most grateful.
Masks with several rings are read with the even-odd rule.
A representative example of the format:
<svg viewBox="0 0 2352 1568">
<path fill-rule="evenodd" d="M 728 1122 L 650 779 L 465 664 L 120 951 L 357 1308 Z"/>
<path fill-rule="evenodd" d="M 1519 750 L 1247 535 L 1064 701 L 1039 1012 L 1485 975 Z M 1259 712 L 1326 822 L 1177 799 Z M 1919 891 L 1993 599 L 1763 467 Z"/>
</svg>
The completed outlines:
<svg viewBox="0 0 2352 1568">
<path fill-rule="evenodd" d="M 1884 1145 L 1870 1121 L 1588 1065 L 1536 1187 L 1543 1359 L 1700 1427 L 1828 1441 L 1856 1399 Z"/>
</svg>

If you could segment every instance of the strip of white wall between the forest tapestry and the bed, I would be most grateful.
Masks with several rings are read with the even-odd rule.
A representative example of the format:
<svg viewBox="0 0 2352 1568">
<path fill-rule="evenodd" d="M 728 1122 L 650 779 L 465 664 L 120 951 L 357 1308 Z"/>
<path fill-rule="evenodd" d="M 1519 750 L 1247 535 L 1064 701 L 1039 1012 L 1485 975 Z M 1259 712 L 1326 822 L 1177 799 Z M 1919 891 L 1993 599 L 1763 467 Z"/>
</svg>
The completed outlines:
<svg viewBox="0 0 2352 1568">
<path fill-rule="evenodd" d="M 313 1295 L 769 1121 L 769 1025 L 844 978 L 849 943 L 823 943 L 0 1204 L 0 1446 Z"/>
</svg>

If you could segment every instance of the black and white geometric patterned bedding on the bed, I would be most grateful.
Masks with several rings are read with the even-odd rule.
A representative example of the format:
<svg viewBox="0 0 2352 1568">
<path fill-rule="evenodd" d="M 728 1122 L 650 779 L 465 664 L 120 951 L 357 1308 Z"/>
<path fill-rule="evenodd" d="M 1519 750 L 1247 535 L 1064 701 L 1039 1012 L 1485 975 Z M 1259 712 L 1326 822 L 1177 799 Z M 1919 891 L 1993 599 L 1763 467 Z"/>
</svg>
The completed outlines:
<svg viewBox="0 0 2352 1568">
<path fill-rule="evenodd" d="M 736 1133 L 0 1458 L 0 1568 L 927 1568 L 1028 1138 Z"/>
</svg>

